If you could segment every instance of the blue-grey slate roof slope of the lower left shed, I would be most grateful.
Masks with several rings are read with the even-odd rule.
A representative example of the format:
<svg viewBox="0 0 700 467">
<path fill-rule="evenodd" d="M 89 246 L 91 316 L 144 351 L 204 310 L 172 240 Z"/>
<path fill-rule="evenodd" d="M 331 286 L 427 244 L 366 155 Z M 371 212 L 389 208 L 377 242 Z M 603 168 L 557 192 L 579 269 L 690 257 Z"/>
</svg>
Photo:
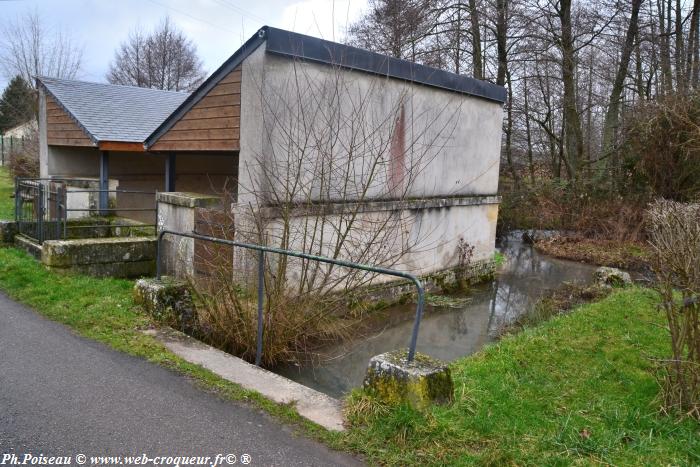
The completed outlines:
<svg viewBox="0 0 700 467">
<path fill-rule="evenodd" d="M 189 93 L 38 77 L 94 142 L 143 142 Z"/>
</svg>

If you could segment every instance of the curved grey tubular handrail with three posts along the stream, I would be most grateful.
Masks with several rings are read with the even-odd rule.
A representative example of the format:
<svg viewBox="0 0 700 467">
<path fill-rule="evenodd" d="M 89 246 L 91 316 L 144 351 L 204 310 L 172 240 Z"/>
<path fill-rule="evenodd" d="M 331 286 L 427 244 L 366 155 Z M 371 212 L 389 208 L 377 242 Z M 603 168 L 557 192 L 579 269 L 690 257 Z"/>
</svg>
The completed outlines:
<svg viewBox="0 0 700 467">
<path fill-rule="evenodd" d="M 219 243 L 222 245 L 230 245 L 233 247 L 245 248 L 248 250 L 255 250 L 258 252 L 258 329 L 257 329 L 257 341 L 256 341 L 256 352 L 255 352 L 255 364 L 260 366 L 262 360 L 262 348 L 263 348 L 263 290 L 265 287 L 265 253 L 275 253 L 278 255 L 293 256 L 296 258 L 303 258 L 312 261 L 318 261 L 321 263 L 333 264 L 336 266 L 343 266 L 347 268 L 360 269 L 362 271 L 375 272 L 378 274 L 385 274 L 388 276 L 400 277 L 402 279 L 408 279 L 416 286 L 416 291 L 418 293 L 418 303 L 416 304 L 416 315 L 413 321 L 413 329 L 411 331 L 411 341 L 408 347 L 408 358 L 409 362 L 413 361 L 416 354 L 416 344 L 418 342 L 418 329 L 420 328 L 420 321 L 423 316 L 423 306 L 425 303 L 425 289 L 420 279 L 418 279 L 413 274 L 407 272 L 396 271 L 394 269 L 387 269 L 377 266 L 370 266 L 367 264 L 353 263 L 352 261 L 345 261 L 341 259 L 333 259 L 327 256 L 312 255 L 308 253 L 303 253 L 300 251 L 285 250 L 282 248 L 274 248 L 263 245 L 255 245 L 251 243 L 236 242 L 234 240 L 226 240 L 223 238 L 210 237 L 207 235 L 200 235 L 194 232 L 176 232 L 173 230 L 163 229 L 158 233 L 158 243 L 156 250 L 156 277 L 160 279 L 161 277 L 161 252 L 163 237 L 165 235 L 173 235 L 178 237 L 192 238 L 195 240 L 204 240 L 213 243 Z"/>
</svg>

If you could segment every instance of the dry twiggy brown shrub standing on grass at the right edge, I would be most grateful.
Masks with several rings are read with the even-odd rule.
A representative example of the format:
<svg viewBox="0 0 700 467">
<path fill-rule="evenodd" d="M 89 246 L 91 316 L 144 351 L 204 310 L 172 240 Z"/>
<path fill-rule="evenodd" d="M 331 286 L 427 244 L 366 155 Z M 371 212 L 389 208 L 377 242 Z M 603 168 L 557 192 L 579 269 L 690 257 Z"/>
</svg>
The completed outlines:
<svg viewBox="0 0 700 467">
<path fill-rule="evenodd" d="M 649 226 L 672 351 L 662 361 L 664 408 L 700 420 L 700 204 L 656 201 Z"/>
</svg>

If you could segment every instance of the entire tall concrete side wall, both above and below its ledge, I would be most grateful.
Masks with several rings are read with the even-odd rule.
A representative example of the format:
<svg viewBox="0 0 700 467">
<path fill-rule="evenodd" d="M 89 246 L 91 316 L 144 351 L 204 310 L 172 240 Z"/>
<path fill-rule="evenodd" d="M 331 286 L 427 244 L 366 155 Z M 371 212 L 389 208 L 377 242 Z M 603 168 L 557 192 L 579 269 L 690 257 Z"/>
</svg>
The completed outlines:
<svg viewBox="0 0 700 467">
<path fill-rule="evenodd" d="M 300 208 L 289 221 L 291 249 L 332 256 L 353 219 L 344 259 L 427 274 L 457 265 L 460 239 L 475 247 L 474 261 L 492 257 L 501 104 L 263 49 L 242 67 L 239 238 L 253 231 L 249 206 L 264 211 L 294 187 L 292 200 L 313 212 Z M 283 221 L 274 209 L 265 217 L 268 243 L 279 245 Z M 393 230 L 373 236 L 378 225 Z"/>
</svg>

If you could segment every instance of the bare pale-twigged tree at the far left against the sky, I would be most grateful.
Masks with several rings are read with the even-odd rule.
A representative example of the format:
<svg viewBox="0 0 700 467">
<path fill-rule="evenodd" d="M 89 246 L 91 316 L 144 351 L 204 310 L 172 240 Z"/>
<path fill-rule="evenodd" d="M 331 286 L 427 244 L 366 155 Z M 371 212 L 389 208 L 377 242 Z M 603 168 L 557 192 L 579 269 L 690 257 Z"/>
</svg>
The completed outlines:
<svg viewBox="0 0 700 467">
<path fill-rule="evenodd" d="M 34 87 L 36 76 L 72 79 L 80 71 L 82 47 L 49 28 L 36 10 L 0 26 L 0 32 L 0 68 L 7 78 L 19 75 Z"/>
</svg>

